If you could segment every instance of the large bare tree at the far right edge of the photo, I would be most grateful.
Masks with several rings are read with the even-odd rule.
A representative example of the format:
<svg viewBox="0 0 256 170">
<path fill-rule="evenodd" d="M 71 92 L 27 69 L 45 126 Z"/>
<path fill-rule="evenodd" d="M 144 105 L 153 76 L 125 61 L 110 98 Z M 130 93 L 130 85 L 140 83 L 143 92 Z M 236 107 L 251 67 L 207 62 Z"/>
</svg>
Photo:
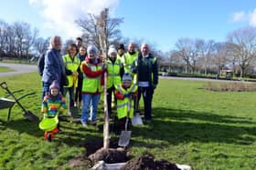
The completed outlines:
<svg viewBox="0 0 256 170">
<path fill-rule="evenodd" d="M 246 27 L 233 31 L 228 35 L 228 45 L 240 65 L 240 77 L 242 77 L 256 55 L 256 28 Z"/>
</svg>

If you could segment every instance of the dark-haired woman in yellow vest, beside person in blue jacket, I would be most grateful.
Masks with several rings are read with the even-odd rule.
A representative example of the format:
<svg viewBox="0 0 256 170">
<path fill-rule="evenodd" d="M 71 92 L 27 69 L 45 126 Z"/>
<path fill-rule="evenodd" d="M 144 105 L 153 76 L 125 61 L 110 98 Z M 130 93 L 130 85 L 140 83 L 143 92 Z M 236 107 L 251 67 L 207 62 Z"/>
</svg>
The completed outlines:
<svg viewBox="0 0 256 170">
<path fill-rule="evenodd" d="M 74 89 L 78 84 L 78 69 L 80 69 L 80 59 L 77 57 L 78 48 L 75 44 L 69 44 L 68 54 L 63 55 L 62 59 L 65 65 L 65 71 L 68 79 L 68 85 L 64 86 L 64 96 L 69 92 L 69 108 L 74 106 Z M 69 115 L 71 115 L 69 113 Z"/>
</svg>

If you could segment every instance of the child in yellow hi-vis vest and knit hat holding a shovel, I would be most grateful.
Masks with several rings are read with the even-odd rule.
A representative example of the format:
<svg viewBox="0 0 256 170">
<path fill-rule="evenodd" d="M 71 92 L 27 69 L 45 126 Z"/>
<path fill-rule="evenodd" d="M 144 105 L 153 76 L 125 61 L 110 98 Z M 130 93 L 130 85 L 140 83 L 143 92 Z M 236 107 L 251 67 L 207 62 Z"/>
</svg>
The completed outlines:
<svg viewBox="0 0 256 170">
<path fill-rule="evenodd" d="M 124 129 L 127 115 L 129 124 L 133 117 L 133 98 L 137 95 L 138 87 L 133 85 L 132 76 L 129 73 L 123 74 L 122 84 L 116 86 L 115 96 L 117 99 L 117 121 L 114 123 L 114 131 L 120 133 Z"/>
</svg>

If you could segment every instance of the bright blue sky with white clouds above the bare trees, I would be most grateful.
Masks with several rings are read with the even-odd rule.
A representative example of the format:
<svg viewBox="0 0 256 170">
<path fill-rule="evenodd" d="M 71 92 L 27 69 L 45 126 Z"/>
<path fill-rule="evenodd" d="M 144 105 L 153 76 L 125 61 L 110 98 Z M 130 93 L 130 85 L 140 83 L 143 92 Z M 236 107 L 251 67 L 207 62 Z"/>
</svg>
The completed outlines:
<svg viewBox="0 0 256 170">
<path fill-rule="evenodd" d="M 73 21 L 103 7 L 123 17 L 123 36 L 144 38 L 162 51 L 175 48 L 181 37 L 225 41 L 245 26 L 256 26 L 252 0 L 8 0 L 0 2 L 0 19 L 8 24 L 24 21 L 43 37 L 80 35 Z"/>
</svg>

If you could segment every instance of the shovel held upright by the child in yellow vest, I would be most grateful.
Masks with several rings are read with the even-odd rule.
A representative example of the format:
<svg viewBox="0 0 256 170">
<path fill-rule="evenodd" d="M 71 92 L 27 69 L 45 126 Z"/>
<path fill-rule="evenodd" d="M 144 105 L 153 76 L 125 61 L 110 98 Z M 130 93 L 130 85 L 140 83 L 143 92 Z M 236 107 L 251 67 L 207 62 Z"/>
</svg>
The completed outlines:
<svg viewBox="0 0 256 170">
<path fill-rule="evenodd" d="M 121 132 L 119 141 L 118 141 L 118 145 L 120 146 L 127 146 L 130 143 L 130 139 L 131 139 L 131 134 L 132 131 L 127 131 L 127 126 L 128 126 L 128 122 L 129 122 L 129 116 L 130 116 L 130 110 L 131 110 L 131 103 L 132 103 L 132 98 L 131 96 L 129 97 L 129 103 L 128 103 L 128 112 L 127 112 L 127 116 L 126 116 L 126 121 L 125 121 L 125 131 Z"/>
</svg>

